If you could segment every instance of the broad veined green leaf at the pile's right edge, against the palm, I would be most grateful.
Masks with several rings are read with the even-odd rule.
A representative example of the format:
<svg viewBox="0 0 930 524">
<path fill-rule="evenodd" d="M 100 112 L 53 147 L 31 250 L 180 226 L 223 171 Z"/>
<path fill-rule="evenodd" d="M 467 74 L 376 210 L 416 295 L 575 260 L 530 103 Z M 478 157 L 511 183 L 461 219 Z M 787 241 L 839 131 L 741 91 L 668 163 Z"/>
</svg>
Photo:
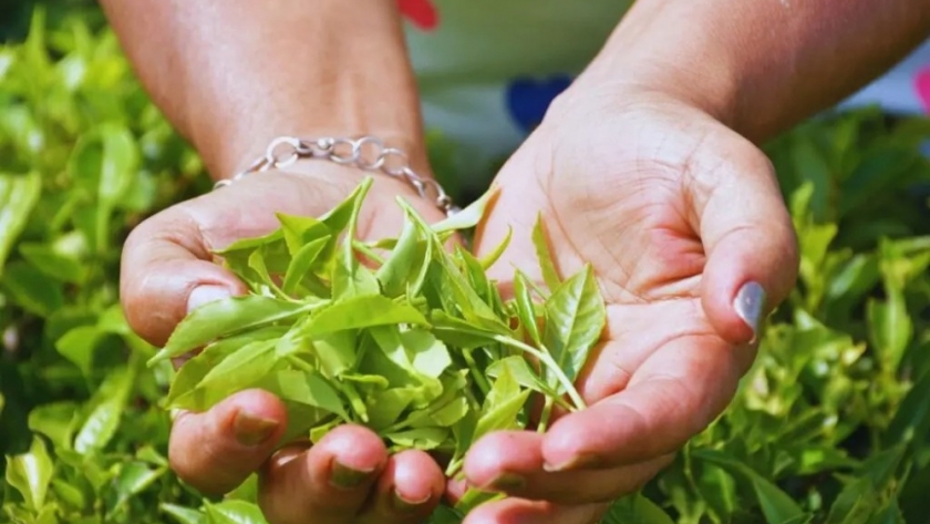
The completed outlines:
<svg viewBox="0 0 930 524">
<path fill-rule="evenodd" d="M 542 343 L 568 379 L 574 381 L 607 321 L 603 299 L 591 267 L 586 267 L 555 288 L 546 300 L 545 310 Z M 555 384 L 551 372 L 544 370 L 544 377 Z"/>
</svg>

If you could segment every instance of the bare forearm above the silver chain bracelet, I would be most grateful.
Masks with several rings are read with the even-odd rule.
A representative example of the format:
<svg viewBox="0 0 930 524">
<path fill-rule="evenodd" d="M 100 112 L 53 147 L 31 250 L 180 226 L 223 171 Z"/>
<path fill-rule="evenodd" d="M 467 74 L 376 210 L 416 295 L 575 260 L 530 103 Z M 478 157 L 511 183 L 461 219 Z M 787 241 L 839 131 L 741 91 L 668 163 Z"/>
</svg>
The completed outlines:
<svg viewBox="0 0 930 524">
<path fill-rule="evenodd" d="M 281 135 L 374 135 L 425 158 L 395 2 L 123 3 L 108 6 L 134 65 L 214 179 Z"/>
</svg>

